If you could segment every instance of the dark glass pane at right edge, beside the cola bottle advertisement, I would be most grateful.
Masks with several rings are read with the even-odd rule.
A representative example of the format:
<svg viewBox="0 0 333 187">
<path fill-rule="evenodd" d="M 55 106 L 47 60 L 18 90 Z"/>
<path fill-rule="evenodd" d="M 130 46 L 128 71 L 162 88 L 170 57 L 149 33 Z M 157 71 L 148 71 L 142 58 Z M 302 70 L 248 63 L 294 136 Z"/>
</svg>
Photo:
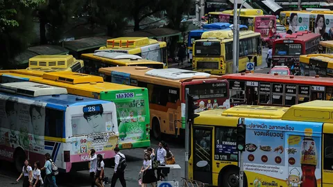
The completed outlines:
<svg viewBox="0 0 333 187">
<path fill-rule="evenodd" d="M 333 134 L 324 134 L 324 170 L 333 170 Z"/>
</svg>

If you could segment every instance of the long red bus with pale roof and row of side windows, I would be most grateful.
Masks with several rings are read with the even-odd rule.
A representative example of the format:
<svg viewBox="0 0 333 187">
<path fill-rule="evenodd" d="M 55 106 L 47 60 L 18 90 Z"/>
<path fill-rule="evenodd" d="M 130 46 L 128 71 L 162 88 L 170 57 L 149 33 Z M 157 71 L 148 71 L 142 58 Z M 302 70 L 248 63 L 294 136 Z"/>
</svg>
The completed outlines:
<svg viewBox="0 0 333 187">
<path fill-rule="evenodd" d="M 332 78 L 262 73 L 222 75 L 229 81 L 230 107 L 273 105 L 290 107 L 310 100 L 333 99 Z"/>
</svg>

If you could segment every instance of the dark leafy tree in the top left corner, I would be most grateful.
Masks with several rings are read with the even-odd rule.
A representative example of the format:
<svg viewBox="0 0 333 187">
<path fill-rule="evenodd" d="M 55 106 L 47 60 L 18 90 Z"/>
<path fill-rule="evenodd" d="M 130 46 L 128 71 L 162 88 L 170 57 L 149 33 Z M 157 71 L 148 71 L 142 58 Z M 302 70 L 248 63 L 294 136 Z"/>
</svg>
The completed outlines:
<svg viewBox="0 0 333 187">
<path fill-rule="evenodd" d="M 44 0 L 0 0 L 0 59 L 3 68 L 33 38 L 32 10 Z"/>
</svg>

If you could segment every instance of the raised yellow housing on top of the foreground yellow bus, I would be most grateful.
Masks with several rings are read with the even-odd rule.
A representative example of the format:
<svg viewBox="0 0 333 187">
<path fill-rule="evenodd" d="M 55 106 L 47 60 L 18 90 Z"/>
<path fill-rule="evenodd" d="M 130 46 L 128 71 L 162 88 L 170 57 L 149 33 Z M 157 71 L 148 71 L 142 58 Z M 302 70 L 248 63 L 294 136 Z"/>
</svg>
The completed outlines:
<svg viewBox="0 0 333 187">
<path fill-rule="evenodd" d="M 313 100 L 291 106 L 282 120 L 333 123 L 333 101 Z"/>
</svg>

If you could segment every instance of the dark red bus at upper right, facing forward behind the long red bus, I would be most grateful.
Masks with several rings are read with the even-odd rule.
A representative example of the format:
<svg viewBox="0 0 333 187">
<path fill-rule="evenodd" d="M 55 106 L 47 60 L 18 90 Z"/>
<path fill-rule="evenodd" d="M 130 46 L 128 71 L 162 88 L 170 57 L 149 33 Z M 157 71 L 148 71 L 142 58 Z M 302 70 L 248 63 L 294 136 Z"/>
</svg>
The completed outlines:
<svg viewBox="0 0 333 187">
<path fill-rule="evenodd" d="M 272 64 L 273 66 L 294 66 L 299 68 L 300 55 L 318 52 L 321 35 L 300 31 L 273 42 Z"/>
</svg>

